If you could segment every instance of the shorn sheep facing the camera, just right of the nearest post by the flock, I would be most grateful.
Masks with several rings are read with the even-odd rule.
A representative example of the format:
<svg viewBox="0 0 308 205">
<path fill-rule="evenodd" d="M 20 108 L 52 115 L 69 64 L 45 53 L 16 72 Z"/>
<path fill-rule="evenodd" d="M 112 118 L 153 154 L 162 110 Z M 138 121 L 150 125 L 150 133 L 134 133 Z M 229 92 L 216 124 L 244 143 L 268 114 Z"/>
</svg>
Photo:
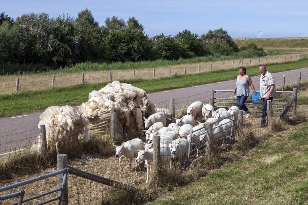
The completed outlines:
<svg viewBox="0 0 308 205">
<path fill-rule="evenodd" d="M 169 144 L 171 154 L 172 154 L 171 157 L 177 158 L 178 159 L 177 163 L 179 165 L 181 165 L 181 163 L 183 164 L 186 163 L 186 158 L 188 154 L 188 145 L 189 145 L 189 142 L 185 138 L 173 140 Z M 183 158 L 183 161 L 182 161 L 182 158 Z"/>
</svg>

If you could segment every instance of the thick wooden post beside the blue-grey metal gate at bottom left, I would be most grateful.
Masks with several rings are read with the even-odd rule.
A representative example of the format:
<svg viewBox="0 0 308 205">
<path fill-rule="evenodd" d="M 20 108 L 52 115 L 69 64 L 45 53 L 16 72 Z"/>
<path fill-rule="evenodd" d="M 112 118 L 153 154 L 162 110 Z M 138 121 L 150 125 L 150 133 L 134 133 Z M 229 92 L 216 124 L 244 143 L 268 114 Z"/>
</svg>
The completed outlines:
<svg viewBox="0 0 308 205">
<path fill-rule="evenodd" d="M 62 170 L 67 168 L 67 155 L 65 154 L 58 154 L 57 156 L 57 160 L 58 160 L 58 165 L 57 165 L 57 170 Z M 63 181 L 63 177 L 62 174 L 58 175 L 58 188 L 62 187 L 62 181 Z M 58 195 L 60 195 L 60 191 L 58 191 Z M 68 205 L 68 199 L 67 199 L 67 182 L 64 185 L 63 188 L 63 195 L 62 195 L 62 200 L 60 205 Z"/>
</svg>

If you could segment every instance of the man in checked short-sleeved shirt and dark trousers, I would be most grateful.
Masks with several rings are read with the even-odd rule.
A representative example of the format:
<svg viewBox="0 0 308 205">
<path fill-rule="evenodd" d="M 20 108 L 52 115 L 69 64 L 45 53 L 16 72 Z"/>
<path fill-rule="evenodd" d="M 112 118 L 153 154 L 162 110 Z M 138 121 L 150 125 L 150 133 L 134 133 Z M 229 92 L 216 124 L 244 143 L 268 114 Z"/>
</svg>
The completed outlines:
<svg viewBox="0 0 308 205">
<path fill-rule="evenodd" d="M 263 128 L 267 126 L 266 117 L 267 117 L 267 101 L 273 100 L 276 97 L 276 89 L 275 89 L 275 80 L 274 76 L 266 70 L 265 65 L 259 66 L 259 71 L 261 72 L 260 77 L 260 97 L 259 99 L 263 101 L 262 107 L 262 118 L 261 118 L 261 126 Z"/>
</svg>

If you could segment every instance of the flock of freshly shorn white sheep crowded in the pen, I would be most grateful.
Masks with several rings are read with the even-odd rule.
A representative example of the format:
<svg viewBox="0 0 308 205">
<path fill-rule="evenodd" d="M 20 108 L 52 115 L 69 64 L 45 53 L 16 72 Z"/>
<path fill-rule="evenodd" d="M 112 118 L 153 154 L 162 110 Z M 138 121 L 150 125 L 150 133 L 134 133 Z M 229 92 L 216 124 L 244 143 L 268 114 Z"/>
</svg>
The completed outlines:
<svg viewBox="0 0 308 205">
<path fill-rule="evenodd" d="M 205 123 L 197 121 L 198 125 L 196 125 L 195 117 L 201 112 Z M 232 116 L 234 116 L 234 122 L 236 122 L 238 113 L 239 108 L 237 106 L 230 107 L 228 111 L 225 108 L 219 108 L 215 111 L 212 105 L 197 101 L 187 107 L 187 115 L 180 119 L 174 118 L 175 123 L 168 124 L 168 127 L 166 126 L 167 120 L 171 121 L 171 119 L 166 117 L 163 112 L 156 112 L 148 118 L 144 117 L 144 127 L 147 129 L 144 132 L 148 144 L 135 138 L 120 146 L 114 145 L 115 156 L 120 158 L 120 170 L 123 170 L 121 164 L 123 157 L 129 159 L 129 171 L 131 171 L 133 158 L 135 158 L 135 170 L 137 163 L 144 161 L 147 168 L 146 183 L 148 183 L 151 162 L 153 161 L 153 138 L 155 136 L 160 136 L 160 162 L 163 166 L 167 168 L 170 162 L 170 168 L 172 168 L 172 164 L 183 167 L 187 160 L 189 143 L 198 148 L 201 142 L 205 140 L 205 124 L 207 122 L 213 123 L 213 143 L 219 143 L 223 136 L 231 133 L 231 128 L 234 125 Z M 193 132 L 193 137 L 190 139 L 191 132 Z M 197 155 L 198 152 L 197 149 Z"/>
</svg>

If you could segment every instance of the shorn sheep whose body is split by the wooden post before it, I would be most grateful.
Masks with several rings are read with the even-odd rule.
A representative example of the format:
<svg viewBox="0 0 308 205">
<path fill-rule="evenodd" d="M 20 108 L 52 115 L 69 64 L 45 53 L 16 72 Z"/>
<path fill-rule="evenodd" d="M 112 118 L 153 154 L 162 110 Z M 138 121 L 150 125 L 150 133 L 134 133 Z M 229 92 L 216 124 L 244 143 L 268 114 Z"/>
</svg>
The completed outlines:
<svg viewBox="0 0 308 205">
<path fill-rule="evenodd" d="M 149 182 L 149 175 L 151 171 L 151 162 L 153 161 L 154 148 L 149 150 L 136 150 L 138 152 L 138 156 L 136 158 L 136 162 L 141 162 L 143 160 L 147 160 L 147 180 L 146 183 Z M 162 164 L 165 164 L 166 167 L 167 162 L 171 159 L 171 150 L 166 144 L 160 144 L 160 161 Z"/>
</svg>

